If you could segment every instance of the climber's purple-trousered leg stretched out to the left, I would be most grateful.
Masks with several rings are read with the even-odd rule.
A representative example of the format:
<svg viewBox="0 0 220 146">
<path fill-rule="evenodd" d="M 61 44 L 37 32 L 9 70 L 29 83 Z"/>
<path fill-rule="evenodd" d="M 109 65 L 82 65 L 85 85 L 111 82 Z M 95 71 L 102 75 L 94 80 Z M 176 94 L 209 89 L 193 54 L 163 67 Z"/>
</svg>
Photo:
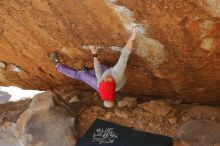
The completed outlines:
<svg viewBox="0 0 220 146">
<path fill-rule="evenodd" d="M 91 86 L 93 89 L 97 90 L 97 78 L 93 74 L 94 70 L 75 70 L 60 63 L 56 65 L 56 68 L 60 73 L 70 78 L 81 80 Z"/>
</svg>

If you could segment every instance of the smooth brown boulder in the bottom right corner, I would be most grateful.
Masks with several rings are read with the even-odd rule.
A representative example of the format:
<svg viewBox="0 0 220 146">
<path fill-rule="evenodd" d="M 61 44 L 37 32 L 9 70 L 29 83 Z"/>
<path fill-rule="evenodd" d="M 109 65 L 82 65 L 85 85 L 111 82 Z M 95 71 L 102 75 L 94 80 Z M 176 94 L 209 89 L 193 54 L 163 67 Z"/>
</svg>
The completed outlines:
<svg viewBox="0 0 220 146">
<path fill-rule="evenodd" d="M 191 120 L 182 125 L 177 138 L 187 146 L 213 146 L 220 143 L 220 123 Z"/>
</svg>

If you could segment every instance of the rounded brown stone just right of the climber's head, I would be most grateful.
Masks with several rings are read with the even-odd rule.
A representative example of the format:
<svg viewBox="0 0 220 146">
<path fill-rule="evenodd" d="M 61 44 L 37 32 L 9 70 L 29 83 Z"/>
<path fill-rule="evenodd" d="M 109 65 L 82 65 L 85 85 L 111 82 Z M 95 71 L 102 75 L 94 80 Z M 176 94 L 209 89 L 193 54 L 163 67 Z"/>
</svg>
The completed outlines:
<svg viewBox="0 0 220 146">
<path fill-rule="evenodd" d="M 137 99 L 134 97 L 125 97 L 121 101 L 118 102 L 119 108 L 134 108 L 137 106 Z"/>
</svg>

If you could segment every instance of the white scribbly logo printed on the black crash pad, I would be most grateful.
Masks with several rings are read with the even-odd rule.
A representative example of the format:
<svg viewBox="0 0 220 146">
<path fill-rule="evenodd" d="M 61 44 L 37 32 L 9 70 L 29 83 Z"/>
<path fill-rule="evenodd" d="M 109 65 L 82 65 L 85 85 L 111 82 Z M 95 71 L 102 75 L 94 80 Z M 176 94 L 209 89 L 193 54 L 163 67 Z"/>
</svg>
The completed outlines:
<svg viewBox="0 0 220 146">
<path fill-rule="evenodd" d="M 118 138 L 117 134 L 113 131 L 114 128 L 98 128 L 93 133 L 92 142 L 99 144 L 114 143 L 115 139 Z"/>
</svg>

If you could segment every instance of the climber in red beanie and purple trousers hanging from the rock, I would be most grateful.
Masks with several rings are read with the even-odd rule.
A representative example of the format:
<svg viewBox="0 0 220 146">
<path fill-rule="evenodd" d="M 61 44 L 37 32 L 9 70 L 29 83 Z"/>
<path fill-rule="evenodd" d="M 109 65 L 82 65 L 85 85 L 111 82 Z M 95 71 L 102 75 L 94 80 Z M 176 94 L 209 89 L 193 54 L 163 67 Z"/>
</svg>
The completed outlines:
<svg viewBox="0 0 220 146">
<path fill-rule="evenodd" d="M 81 80 L 98 91 L 104 106 L 111 108 L 115 102 L 115 92 L 119 91 L 126 83 L 125 69 L 130 53 L 132 52 L 133 41 L 136 37 L 137 27 L 133 28 L 130 38 L 121 50 L 117 64 L 111 68 L 101 65 L 98 59 L 98 48 L 90 47 L 94 69 L 75 70 L 59 62 L 58 54 L 50 54 L 52 62 L 56 65 L 58 72 L 77 80 Z"/>
</svg>

